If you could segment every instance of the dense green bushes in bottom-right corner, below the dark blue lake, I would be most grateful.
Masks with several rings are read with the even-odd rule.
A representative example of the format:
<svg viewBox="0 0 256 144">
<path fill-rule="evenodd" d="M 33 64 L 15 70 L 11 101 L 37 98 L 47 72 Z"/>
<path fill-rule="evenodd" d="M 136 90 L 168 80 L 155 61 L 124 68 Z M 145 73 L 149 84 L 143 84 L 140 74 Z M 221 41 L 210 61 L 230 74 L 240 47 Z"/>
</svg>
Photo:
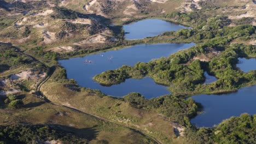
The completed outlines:
<svg viewBox="0 0 256 144">
<path fill-rule="evenodd" d="M 214 128 L 188 128 L 187 143 L 255 143 L 256 115 L 242 114 L 226 119 Z"/>
</svg>

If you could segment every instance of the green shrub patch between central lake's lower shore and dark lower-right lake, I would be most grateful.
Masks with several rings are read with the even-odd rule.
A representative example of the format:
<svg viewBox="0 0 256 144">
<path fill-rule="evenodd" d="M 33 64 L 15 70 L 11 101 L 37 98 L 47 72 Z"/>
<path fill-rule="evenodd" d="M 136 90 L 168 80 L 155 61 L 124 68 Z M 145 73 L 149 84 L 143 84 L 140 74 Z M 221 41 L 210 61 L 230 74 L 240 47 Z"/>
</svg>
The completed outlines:
<svg viewBox="0 0 256 144">
<path fill-rule="evenodd" d="M 169 120 L 182 125 L 190 125 L 189 119 L 196 116 L 202 108 L 191 98 L 185 100 L 173 95 L 146 99 L 139 93 L 129 93 L 122 99 L 138 109 L 155 109 L 170 118 Z"/>
</svg>

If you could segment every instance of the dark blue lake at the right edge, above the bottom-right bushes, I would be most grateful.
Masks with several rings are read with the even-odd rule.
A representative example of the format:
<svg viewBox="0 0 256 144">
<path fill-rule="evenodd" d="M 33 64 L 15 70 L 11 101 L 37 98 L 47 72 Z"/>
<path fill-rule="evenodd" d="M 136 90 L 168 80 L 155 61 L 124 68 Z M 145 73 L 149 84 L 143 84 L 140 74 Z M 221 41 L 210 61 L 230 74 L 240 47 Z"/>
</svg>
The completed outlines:
<svg viewBox="0 0 256 144">
<path fill-rule="evenodd" d="M 191 123 L 199 127 L 212 127 L 224 119 L 240 116 L 242 113 L 256 113 L 256 86 L 245 87 L 230 94 L 201 94 L 192 97 L 201 103 L 204 112 L 191 119 Z"/>
</svg>

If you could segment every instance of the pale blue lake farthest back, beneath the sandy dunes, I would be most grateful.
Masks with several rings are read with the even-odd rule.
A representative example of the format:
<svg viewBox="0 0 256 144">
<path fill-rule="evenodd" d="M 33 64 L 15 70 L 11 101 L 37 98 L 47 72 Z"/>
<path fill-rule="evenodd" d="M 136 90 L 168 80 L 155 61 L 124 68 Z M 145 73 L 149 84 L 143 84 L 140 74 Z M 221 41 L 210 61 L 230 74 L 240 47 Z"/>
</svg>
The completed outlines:
<svg viewBox="0 0 256 144">
<path fill-rule="evenodd" d="M 126 39 L 143 39 L 159 35 L 163 32 L 178 31 L 188 27 L 158 19 L 147 19 L 124 25 L 123 28 L 125 32 L 129 32 L 125 34 Z"/>
</svg>

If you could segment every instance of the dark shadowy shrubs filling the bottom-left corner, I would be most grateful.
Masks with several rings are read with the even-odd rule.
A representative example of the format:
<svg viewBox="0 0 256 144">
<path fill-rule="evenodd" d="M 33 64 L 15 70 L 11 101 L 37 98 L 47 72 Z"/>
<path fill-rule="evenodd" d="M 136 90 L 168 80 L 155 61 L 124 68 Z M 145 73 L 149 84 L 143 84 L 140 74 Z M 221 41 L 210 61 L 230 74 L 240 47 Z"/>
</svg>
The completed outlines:
<svg viewBox="0 0 256 144">
<path fill-rule="evenodd" d="M 80 138 L 58 125 L 16 124 L 0 127 L 0 143 L 38 143 L 59 140 L 62 143 L 86 143 Z"/>
</svg>

